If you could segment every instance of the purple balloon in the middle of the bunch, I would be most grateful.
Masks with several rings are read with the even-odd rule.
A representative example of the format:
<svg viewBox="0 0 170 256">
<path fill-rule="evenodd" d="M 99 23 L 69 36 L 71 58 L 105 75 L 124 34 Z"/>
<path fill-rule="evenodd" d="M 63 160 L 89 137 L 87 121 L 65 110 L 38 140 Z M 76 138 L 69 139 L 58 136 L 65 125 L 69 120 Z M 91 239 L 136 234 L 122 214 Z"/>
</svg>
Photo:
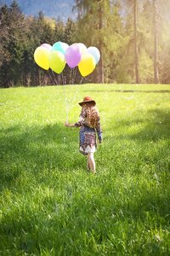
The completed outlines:
<svg viewBox="0 0 170 256">
<path fill-rule="evenodd" d="M 65 51 L 65 61 L 69 67 L 77 67 L 81 61 L 82 53 L 77 44 L 71 44 Z"/>
</svg>

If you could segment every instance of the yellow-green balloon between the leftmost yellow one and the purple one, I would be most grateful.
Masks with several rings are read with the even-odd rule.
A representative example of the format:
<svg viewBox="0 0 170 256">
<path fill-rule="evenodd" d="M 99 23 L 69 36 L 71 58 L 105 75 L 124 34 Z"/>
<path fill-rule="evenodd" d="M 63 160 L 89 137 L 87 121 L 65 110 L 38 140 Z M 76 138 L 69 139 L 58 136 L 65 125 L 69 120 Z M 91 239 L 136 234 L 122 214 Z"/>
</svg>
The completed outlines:
<svg viewBox="0 0 170 256">
<path fill-rule="evenodd" d="M 49 67 L 55 73 L 61 73 L 65 68 L 65 55 L 59 50 L 53 50 L 49 55 Z"/>
</svg>

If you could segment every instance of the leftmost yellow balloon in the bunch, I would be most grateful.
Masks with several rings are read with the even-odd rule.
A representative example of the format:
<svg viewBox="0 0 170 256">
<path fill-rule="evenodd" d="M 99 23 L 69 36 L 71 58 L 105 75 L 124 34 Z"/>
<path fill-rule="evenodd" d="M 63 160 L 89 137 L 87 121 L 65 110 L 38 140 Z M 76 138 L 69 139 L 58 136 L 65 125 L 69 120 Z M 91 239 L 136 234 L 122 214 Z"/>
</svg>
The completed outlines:
<svg viewBox="0 0 170 256">
<path fill-rule="evenodd" d="M 48 70 L 49 68 L 49 51 L 45 47 L 37 47 L 34 52 L 34 60 L 39 67 Z"/>
</svg>

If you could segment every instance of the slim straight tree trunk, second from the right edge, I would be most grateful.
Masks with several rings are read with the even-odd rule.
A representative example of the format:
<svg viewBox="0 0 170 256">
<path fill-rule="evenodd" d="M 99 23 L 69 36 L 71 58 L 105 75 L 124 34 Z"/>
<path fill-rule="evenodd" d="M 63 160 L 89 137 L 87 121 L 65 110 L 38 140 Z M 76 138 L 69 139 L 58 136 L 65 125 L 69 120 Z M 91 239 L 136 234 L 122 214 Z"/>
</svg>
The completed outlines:
<svg viewBox="0 0 170 256">
<path fill-rule="evenodd" d="M 137 44 L 137 0 L 134 0 L 134 58 L 136 84 L 139 84 L 139 54 Z"/>
</svg>

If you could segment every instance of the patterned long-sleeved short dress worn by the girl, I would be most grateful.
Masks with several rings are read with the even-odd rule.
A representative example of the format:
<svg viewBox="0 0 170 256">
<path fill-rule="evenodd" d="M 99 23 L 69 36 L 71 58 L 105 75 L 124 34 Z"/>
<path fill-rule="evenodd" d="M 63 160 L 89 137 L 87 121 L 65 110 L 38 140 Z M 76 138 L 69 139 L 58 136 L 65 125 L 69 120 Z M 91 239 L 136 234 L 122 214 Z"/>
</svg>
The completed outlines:
<svg viewBox="0 0 170 256">
<path fill-rule="evenodd" d="M 75 124 L 76 127 L 81 127 L 79 133 L 79 151 L 82 154 L 94 153 L 97 149 L 96 133 L 99 141 L 102 141 L 102 131 L 100 128 L 100 121 L 96 128 L 90 127 L 87 120 L 87 112 L 82 108 L 79 121 Z"/>
</svg>

